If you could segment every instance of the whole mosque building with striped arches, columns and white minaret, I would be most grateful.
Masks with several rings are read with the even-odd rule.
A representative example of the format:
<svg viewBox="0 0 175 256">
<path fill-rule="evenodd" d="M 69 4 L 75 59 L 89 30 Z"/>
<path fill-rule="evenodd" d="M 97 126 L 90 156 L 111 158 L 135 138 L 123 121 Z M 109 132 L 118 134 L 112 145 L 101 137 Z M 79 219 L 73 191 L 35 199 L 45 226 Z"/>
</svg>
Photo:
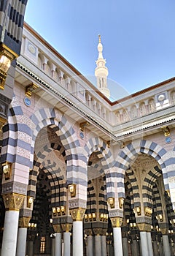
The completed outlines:
<svg viewBox="0 0 175 256">
<path fill-rule="evenodd" d="M 175 78 L 110 100 L 0 1 L 0 255 L 175 255 Z"/>
</svg>

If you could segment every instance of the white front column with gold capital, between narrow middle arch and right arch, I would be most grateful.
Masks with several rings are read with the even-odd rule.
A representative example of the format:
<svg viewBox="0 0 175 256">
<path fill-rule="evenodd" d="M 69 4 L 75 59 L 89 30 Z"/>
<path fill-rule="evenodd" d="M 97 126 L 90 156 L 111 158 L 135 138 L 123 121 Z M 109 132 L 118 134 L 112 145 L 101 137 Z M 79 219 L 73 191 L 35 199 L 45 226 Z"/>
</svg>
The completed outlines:
<svg viewBox="0 0 175 256">
<path fill-rule="evenodd" d="M 123 242 L 122 242 L 122 230 L 121 230 L 123 218 L 112 217 L 111 222 L 113 227 L 113 238 L 114 238 L 114 256 L 123 256 Z"/>
</svg>

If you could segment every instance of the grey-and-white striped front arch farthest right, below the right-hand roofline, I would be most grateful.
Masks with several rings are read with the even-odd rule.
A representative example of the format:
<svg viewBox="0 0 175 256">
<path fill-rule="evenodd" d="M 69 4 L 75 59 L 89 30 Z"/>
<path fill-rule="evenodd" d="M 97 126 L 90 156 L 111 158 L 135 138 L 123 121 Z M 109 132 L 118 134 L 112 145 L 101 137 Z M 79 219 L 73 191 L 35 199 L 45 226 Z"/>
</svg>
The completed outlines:
<svg viewBox="0 0 175 256">
<path fill-rule="evenodd" d="M 114 164 L 114 166 L 117 167 L 117 173 L 121 175 L 120 180 L 118 181 L 118 186 L 121 184 L 120 187 L 123 191 L 123 197 L 125 197 L 123 174 L 125 174 L 125 171 L 132 165 L 136 156 L 141 153 L 152 156 L 158 161 L 163 172 L 165 189 L 169 189 L 168 176 L 174 173 L 175 157 L 170 157 L 168 152 L 155 142 L 149 140 L 134 140 L 120 151 Z"/>
</svg>

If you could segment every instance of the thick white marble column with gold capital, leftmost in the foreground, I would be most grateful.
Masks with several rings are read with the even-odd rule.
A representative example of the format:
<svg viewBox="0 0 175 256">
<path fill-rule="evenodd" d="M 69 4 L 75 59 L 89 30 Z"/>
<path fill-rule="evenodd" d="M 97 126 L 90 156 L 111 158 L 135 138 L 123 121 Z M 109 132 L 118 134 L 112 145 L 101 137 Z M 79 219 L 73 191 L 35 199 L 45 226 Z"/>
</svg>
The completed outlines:
<svg viewBox="0 0 175 256">
<path fill-rule="evenodd" d="M 19 211 L 23 204 L 24 197 L 24 195 L 15 193 L 3 195 L 6 213 L 4 220 L 1 255 L 16 255 Z"/>
</svg>

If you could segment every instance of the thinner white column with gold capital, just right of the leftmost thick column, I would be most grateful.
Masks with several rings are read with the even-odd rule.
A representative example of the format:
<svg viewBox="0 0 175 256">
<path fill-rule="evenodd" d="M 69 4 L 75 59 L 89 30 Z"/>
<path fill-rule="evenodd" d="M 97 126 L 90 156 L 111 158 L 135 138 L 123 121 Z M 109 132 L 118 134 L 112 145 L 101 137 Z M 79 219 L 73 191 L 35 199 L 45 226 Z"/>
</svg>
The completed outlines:
<svg viewBox="0 0 175 256">
<path fill-rule="evenodd" d="M 27 228 L 28 228 L 28 223 L 29 223 L 30 219 L 31 219 L 30 217 L 20 217 L 19 218 L 16 256 L 25 256 L 26 255 Z"/>
</svg>

